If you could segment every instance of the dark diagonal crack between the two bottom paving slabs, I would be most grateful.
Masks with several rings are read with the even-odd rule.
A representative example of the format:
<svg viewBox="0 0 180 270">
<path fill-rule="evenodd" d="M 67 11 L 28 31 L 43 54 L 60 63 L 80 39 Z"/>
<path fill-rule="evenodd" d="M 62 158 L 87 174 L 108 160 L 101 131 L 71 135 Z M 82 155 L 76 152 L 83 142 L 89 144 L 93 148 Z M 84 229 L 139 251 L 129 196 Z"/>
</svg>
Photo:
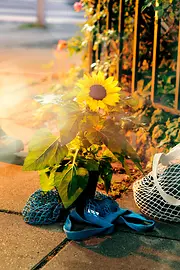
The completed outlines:
<svg viewBox="0 0 180 270">
<path fill-rule="evenodd" d="M 65 238 L 59 245 L 57 245 L 53 250 L 51 250 L 44 258 L 42 258 L 36 265 L 34 265 L 31 270 L 42 269 L 50 260 L 56 256 L 68 243 L 69 239 Z"/>
</svg>

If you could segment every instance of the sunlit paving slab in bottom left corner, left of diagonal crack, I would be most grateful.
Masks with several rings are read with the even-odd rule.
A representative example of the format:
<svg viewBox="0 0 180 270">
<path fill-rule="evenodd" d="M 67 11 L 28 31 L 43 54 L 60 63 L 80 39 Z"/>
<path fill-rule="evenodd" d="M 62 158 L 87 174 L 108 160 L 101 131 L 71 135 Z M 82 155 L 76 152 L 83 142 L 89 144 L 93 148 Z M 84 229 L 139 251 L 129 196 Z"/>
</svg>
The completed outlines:
<svg viewBox="0 0 180 270">
<path fill-rule="evenodd" d="M 65 238 L 59 230 L 26 224 L 22 216 L 0 213 L 0 269 L 31 269 Z"/>
</svg>

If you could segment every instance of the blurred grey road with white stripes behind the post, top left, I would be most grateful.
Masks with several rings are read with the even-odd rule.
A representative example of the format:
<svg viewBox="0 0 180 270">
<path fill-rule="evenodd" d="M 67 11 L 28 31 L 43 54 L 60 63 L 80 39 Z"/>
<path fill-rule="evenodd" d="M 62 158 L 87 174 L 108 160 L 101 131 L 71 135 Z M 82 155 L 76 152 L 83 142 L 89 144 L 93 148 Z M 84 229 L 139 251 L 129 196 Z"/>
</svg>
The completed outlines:
<svg viewBox="0 0 180 270">
<path fill-rule="evenodd" d="M 35 22 L 36 0 L 0 0 L 0 22 Z M 77 13 L 67 0 L 45 0 L 47 23 L 80 23 L 83 13 Z"/>
</svg>

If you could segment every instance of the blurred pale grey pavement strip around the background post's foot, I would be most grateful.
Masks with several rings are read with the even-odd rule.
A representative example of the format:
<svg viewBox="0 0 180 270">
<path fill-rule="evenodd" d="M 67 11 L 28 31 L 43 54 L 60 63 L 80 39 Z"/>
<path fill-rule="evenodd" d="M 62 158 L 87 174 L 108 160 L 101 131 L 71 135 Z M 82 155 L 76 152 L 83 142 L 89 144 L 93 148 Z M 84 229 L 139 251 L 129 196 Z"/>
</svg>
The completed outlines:
<svg viewBox="0 0 180 270">
<path fill-rule="evenodd" d="M 68 17 L 67 17 L 68 20 Z M 53 48 L 58 40 L 68 40 L 74 35 L 81 35 L 82 23 L 64 22 L 48 24 L 46 28 L 31 27 L 18 22 L 0 22 L 0 48 Z"/>
</svg>

